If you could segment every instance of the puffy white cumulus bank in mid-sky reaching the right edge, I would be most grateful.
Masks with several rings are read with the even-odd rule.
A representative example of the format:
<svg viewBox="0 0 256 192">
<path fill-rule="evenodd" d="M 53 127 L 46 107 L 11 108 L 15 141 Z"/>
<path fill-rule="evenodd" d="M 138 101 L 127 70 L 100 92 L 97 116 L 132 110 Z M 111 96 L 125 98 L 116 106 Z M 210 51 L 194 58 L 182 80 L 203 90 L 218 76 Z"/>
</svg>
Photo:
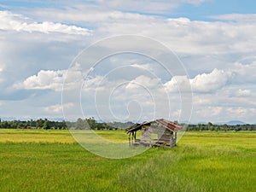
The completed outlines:
<svg viewBox="0 0 256 192">
<path fill-rule="evenodd" d="M 235 67 L 226 71 L 213 69 L 211 73 L 201 73 L 193 79 L 186 76 L 174 76 L 165 87 L 167 91 L 189 90 L 194 92 L 211 93 L 224 88 L 228 84 L 248 84 L 256 81 L 256 63 L 243 65 L 236 63 Z M 248 96 L 249 90 L 238 90 L 236 96 Z"/>
</svg>

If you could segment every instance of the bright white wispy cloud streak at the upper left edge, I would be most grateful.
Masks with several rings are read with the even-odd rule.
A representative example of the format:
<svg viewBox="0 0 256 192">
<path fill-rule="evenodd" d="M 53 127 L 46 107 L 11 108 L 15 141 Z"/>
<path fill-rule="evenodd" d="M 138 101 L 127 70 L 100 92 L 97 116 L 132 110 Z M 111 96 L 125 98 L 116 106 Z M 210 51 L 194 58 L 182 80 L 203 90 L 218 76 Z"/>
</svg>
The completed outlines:
<svg viewBox="0 0 256 192">
<path fill-rule="evenodd" d="M 59 32 L 69 35 L 90 35 L 90 30 L 78 26 L 67 26 L 61 23 L 44 21 L 42 23 L 30 22 L 22 15 L 15 15 L 9 11 L 0 11 L 0 29 L 16 32 Z"/>
</svg>

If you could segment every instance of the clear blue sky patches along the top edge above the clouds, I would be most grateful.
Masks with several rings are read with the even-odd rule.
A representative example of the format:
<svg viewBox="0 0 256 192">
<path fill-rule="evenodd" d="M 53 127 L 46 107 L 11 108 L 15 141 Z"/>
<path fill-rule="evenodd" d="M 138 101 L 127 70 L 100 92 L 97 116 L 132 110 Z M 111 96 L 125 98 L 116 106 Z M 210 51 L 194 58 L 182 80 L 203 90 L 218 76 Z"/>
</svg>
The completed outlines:
<svg viewBox="0 0 256 192">
<path fill-rule="evenodd" d="M 20 8 L 66 8 L 67 6 L 73 6 L 74 4 L 100 4 L 96 1 L 74 1 L 75 3 L 68 3 L 68 1 L 1 1 L 0 9 L 19 10 Z M 147 1 L 146 1 L 147 2 Z M 157 1 L 155 1 L 157 2 Z M 172 1 L 170 1 L 172 2 Z M 189 2 L 189 1 L 188 1 Z M 200 1 L 199 1 L 200 2 Z M 131 8 L 125 9 L 125 11 L 131 11 L 133 13 L 143 13 L 146 15 L 164 15 L 172 17 L 189 17 L 191 20 L 208 20 L 209 15 L 225 15 L 225 14 L 254 14 L 256 3 L 253 0 L 208 0 L 201 1 L 202 3 L 180 3 L 176 9 L 169 9 L 164 12 L 150 12 L 147 10 L 132 10 Z M 7 7 L 7 8 L 6 8 Z M 119 8 L 121 9 L 121 8 Z M 168 9 L 167 9 L 168 10 Z"/>
</svg>

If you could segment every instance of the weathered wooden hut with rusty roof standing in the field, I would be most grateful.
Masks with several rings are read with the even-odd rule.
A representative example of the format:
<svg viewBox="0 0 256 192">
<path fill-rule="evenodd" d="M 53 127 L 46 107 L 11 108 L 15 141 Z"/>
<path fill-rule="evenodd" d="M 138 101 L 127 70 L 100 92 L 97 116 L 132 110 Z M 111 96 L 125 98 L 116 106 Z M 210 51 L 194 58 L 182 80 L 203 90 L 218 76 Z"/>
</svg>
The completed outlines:
<svg viewBox="0 0 256 192">
<path fill-rule="evenodd" d="M 148 145 L 171 148 L 176 145 L 177 131 L 182 127 L 166 119 L 156 119 L 142 124 L 132 125 L 126 130 L 130 146 Z M 142 131 L 137 139 L 137 131 Z"/>
</svg>

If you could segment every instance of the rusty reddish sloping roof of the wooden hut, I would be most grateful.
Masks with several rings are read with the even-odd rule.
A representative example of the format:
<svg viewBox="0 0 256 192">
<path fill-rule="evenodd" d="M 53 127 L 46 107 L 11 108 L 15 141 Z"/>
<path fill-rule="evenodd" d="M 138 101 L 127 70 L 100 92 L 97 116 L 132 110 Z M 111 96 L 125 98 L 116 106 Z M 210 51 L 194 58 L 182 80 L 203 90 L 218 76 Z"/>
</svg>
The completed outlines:
<svg viewBox="0 0 256 192">
<path fill-rule="evenodd" d="M 166 127 L 166 129 L 170 130 L 170 131 L 178 131 L 180 129 L 182 129 L 182 126 L 179 126 L 175 123 L 173 123 L 172 121 L 170 120 L 166 120 L 166 119 L 156 119 L 156 120 L 152 120 L 152 121 L 146 121 L 146 122 L 143 122 L 142 124 L 135 124 L 135 125 L 132 125 L 130 128 L 128 128 L 126 130 L 126 133 L 129 133 L 131 131 L 138 131 L 138 130 L 141 130 L 143 125 L 148 125 L 148 124 L 151 124 L 153 122 L 158 122 L 160 123 L 161 125 L 164 125 Z"/>
</svg>

